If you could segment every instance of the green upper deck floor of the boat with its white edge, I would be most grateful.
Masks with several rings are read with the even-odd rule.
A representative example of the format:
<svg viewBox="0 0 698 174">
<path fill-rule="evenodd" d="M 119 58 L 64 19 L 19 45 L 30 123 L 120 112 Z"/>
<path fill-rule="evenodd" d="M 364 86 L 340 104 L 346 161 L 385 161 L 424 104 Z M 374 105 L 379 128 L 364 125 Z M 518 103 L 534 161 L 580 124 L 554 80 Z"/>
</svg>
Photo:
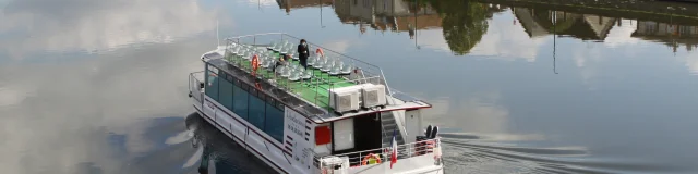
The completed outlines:
<svg viewBox="0 0 698 174">
<path fill-rule="evenodd" d="M 281 53 L 278 51 L 273 52 L 273 57 L 275 57 L 275 59 L 280 58 Z M 269 97 L 274 98 L 274 100 L 280 101 L 287 108 L 301 113 L 315 123 L 332 122 L 335 120 L 376 112 L 431 108 L 429 103 L 419 100 L 408 101 L 388 95 L 388 104 L 382 109 L 362 109 L 353 112 L 337 113 L 329 107 L 328 89 L 358 85 L 357 83 L 349 80 L 348 75 L 333 76 L 329 75 L 329 73 L 313 69 L 310 65 L 308 71 L 312 71 L 312 77 L 306 80 L 293 82 L 287 77 L 280 76 L 278 73 L 275 76 L 275 72 L 262 66 L 260 66 L 255 73 L 252 73 L 250 60 L 244 59 L 244 55 L 226 54 L 225 47 L 219 47 L 218 50 L 204 54 L 202 59 L 204 59 L 204 61 L 209 65 L 225 71 L 241 82 L 255 87 L 256 90 L 264 91 Z M 289 62 L 292 65 L 299 64 L 299 61 L 296 60 Z"/>
</svg>

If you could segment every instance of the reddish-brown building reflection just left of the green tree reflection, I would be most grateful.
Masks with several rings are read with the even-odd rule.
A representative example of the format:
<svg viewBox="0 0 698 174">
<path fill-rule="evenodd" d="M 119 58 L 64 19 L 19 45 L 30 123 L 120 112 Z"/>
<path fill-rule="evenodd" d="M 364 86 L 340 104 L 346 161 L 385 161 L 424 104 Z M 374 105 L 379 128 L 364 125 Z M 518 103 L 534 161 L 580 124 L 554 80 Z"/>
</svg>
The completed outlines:
<svg viewBox="0 0 698 174">
<path fill-rule="evenodd" d="M 441 27 L 441 17 L 431 7 L 402 0 L 335 0 L 335 12 L 345 24 L 360 24 L 376 30 L 410 32 Z"/>
</svg>

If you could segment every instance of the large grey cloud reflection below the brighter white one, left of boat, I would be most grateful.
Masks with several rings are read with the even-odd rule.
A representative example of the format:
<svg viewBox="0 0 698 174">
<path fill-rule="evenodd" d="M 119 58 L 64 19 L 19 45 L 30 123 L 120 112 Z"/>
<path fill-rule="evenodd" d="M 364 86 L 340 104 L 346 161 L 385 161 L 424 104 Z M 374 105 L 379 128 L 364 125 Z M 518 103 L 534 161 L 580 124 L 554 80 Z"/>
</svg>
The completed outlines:
<svg viewBox="0 0 698 174">
<path fill-rule="evenodd" d="M 156 148 L 157 139 L 146 137 L 152 117 L 191 112 L 181 79 L 200 69 L 196 57 L 209 45 L 166 46 L 99 60 L 2 65 L 0 82 L 12 82 L 0 83 L 3 173 L 74 173 L 84 161 L 118 173 L 123 158 Z"/>
</svg>

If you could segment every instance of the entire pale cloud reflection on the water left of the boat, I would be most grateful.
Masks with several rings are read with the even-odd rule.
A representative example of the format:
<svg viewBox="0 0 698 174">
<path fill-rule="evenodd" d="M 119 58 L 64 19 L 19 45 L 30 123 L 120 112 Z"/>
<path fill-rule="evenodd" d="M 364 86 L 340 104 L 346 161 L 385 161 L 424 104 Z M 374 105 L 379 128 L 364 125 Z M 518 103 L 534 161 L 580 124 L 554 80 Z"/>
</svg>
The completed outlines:
<svg viewBox="0 0 698 174">
<path fill-rule="evenodd" d="M 22 60 L 43 51 L 106 52 L 173 42 L 216 27 L 215 13 L 195 0 L 44 2 L 7 4 L 0 54 Z M 0 64 L 0 169 L 121 173 L 124 161 L 164 144 L 148 137 L 153 117 L 191 112 L 182 78 L 201 69 L 196 58 L 215 40 L 207 39 L 137 46 L 143 50 L 94 60 Z"/>
</svg>

